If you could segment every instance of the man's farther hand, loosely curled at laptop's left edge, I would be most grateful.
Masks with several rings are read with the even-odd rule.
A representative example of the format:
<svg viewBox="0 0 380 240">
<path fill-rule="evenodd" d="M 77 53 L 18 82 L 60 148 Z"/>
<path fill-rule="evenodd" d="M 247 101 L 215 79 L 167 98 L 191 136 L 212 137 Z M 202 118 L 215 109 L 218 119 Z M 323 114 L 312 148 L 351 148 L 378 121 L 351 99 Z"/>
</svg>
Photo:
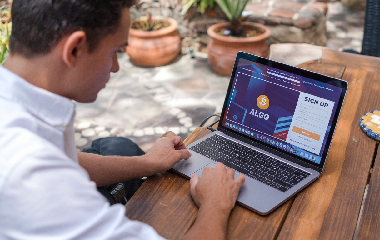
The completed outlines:
<svg viewBox="0 0 380 240">
<path fill-rule="evenodd" d="M 144 157 L 152 165 L 151 174 L 156 174 L 171 169 L 191 155 L 180 136 L 170 136 L 157 139 Z"/>
</svg>

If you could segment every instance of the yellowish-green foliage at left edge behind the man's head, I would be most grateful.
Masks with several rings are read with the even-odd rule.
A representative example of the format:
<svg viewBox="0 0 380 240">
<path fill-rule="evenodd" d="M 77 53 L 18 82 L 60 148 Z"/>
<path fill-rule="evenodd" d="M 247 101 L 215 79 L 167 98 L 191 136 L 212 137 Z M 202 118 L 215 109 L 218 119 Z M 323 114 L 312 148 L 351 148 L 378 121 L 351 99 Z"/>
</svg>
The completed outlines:
<svg viewBox="0 0 380 240">
<path fill-rule="evenodd" d="M 3 7 L 0 8 L 0 63 L 5 62 L 9 53 L 9 36 L 12 32 L 11 13 Z"/>
</svg>

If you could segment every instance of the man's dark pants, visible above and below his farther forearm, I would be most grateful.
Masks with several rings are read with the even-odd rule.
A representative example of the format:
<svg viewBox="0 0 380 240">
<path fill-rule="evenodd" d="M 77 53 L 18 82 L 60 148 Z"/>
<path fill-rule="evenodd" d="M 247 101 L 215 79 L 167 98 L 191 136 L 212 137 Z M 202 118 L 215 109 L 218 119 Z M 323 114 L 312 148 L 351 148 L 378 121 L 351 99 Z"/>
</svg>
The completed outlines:
<svg viewBox="0 0 380 240">
<path fill-rule="evenodd" d="M 103 156 L 139 156 L 145 154 L 137 144 L 125 137 L 103 137 L 96 139 L 92 142 L 91 147 L 84 148 L 82 152 Z M 122 182 L 127 200 L 136 193 L 142 182 L 140 178 Z"/>
</svg>

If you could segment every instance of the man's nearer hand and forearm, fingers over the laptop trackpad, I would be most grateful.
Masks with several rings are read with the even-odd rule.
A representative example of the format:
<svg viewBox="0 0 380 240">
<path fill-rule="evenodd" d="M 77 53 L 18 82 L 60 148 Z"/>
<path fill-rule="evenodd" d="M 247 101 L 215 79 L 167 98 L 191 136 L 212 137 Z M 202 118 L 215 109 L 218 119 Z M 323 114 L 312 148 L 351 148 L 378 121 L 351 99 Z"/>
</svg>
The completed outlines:
<svg viewBox="0 0 380 240">
<path fill-rule="evenodd" d="M 226 170 L 223 163 L 215 169 L 205 167 L 202 176 L 193 174 L 190 179 L 190 194 L 199 207 L 195 223 L 182 239 L 223 240 L 227 238 L 227 222 L 235 206 L 239 190 L 245 181 L 235 171 Z"/>
</svg>

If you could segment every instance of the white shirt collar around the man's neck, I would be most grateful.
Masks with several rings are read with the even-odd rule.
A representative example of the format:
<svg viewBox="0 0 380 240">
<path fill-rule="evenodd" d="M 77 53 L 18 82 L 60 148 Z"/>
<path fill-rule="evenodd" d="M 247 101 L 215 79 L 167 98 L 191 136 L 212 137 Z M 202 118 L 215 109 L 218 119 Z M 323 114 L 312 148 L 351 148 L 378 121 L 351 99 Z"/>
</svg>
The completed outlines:
<svg viewBox="0 0 380 240">
<path fill-rule="evenodd" d="M 22 79 L 0 66 L 0 98 L 25 107 L 35 117 L 55 127 L 66 127 L 74 114 L 74 103 Z"/>
</svg>

